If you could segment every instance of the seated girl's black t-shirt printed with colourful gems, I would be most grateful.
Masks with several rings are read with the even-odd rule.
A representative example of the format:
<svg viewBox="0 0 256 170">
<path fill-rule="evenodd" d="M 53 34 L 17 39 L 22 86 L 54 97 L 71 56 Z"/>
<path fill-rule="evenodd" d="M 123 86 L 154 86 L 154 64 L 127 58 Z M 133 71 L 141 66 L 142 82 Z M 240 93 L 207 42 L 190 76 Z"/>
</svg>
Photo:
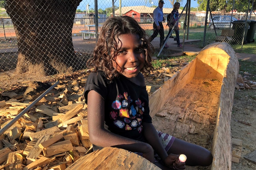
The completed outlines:
<svg viewBox="0 0 256 170">
<path fill-rule="evenodd" d="M 146 86 L 139 86 L 125 76 L 108 83 L 102 71 L 91 73 L 85 85 L 85 102 L 90 90 L 105 101 L 105 123 L 111 132 L 134 140 L 145 141 L 141 122 L 152 123 Z"/>
</svg>

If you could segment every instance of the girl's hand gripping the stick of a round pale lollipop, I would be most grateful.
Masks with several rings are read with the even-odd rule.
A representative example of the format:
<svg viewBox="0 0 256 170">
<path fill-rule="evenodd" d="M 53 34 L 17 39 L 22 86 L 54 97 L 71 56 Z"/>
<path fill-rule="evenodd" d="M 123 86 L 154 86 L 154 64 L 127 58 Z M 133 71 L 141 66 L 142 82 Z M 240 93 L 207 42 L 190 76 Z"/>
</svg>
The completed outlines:
<svg viewBox="0 0 256 170">
<path fill-rule="evenodd" d="M 181 170 L 186 168 L 185 162 L 179 161 L 179 156 L 172 153 L 165 158 L 164 164 L 176 170 Z"/>
</svg>

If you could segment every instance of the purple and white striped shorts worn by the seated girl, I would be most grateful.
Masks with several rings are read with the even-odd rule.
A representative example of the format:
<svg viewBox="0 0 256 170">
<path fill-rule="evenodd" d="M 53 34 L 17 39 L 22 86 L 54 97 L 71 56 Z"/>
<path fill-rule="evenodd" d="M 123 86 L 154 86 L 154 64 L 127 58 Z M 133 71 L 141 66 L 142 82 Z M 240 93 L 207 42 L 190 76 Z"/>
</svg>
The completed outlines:
<svg viewBox="0 0 256 170">
<path fill-rule="evenodd" d="M 162 142 L 162 145 L 164 146 L 166 152 L 170 149 L 170 147 L 172 146 L 175 137 L 167 134 L 167 133 L 163 133 L 161 131 L 157 130 L 157 134 Z M 135 152 L 136 154 L 142 156 L 141 152 Z M 155 153 L 155 162 L 159 162 L 160 161 L 160 157 Z"/>
</svg>

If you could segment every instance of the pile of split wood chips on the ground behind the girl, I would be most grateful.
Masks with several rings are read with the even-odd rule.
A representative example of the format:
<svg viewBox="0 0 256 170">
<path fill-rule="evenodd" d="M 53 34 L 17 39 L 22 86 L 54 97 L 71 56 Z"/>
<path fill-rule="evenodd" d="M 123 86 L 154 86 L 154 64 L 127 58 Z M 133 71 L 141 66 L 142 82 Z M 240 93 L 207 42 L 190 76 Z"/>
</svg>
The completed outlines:
<svg viewBox="0 0 256 170">
<path fill-rule="evenodd" d="M 146 79 L 151 95 L 174 72 L 163 67 Z M 63 170 L 92 152 L 83 90 L 89 72 L 62 75 L 60 83 L 0 136 L 0 169 Z M 0 93 L 0 127 L 3 128 L 56 81 L 30 82 Z M 151 88 L 154 87 L 154 88 Z"/>
</svg>

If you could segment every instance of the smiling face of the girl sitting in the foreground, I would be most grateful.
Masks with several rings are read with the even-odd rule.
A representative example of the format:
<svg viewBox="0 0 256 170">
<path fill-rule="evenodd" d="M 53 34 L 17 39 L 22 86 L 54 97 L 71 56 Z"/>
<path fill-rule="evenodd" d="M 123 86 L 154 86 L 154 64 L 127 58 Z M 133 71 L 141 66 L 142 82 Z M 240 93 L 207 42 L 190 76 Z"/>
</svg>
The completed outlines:
<svg viewBox="0 0 256 170">
<path fill-rule="evenodd" d="M 114 58 L 113 65 L 117 71 L 127 78 L 136 77 L 143 68 L 145 62 L 145 51 L 141 46 L 138 34 L 122 34 L 116 41 L 118 42 L 117 56 Z M 116 63 L 115 63 L 116 61 Z"/>
</svg>

